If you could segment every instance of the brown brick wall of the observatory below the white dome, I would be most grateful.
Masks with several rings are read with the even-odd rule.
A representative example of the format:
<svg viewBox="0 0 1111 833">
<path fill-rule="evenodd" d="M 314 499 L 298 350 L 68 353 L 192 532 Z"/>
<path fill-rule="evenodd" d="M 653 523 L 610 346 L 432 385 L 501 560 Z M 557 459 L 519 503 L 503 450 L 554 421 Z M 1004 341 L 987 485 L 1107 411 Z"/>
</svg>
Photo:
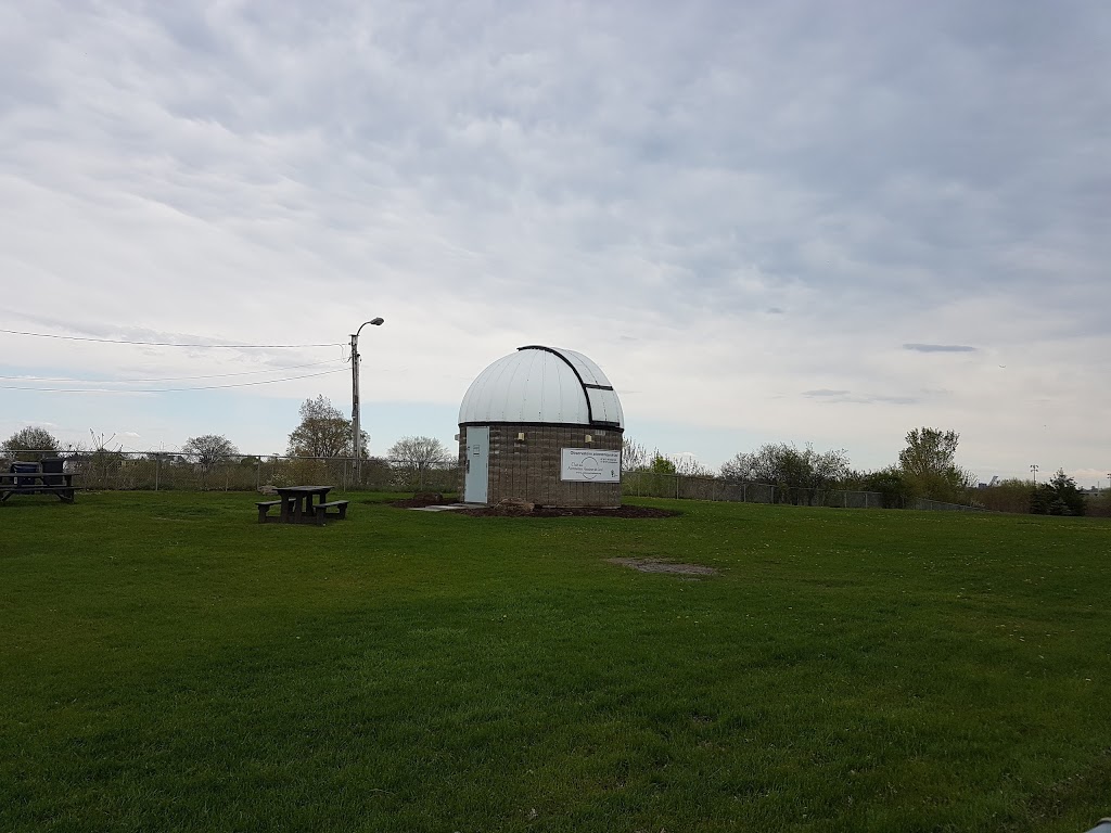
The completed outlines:
<svg viewBox="0 0 1111 833">
<path fill-rule="evenodd" d="M 517 435 L 524 434 L 524 441 Z M 593 442 L 587 442 L 590 434 Z M 520 498 L 544 506 L 619 506 L 620 483 L 560 480 L 562 449 L 620 451 L 620 429 L 577 425 L 490 425 L 488 502 Z M 459 426 L 459 461 L 467 466 L 467 428 Z"/>
</svg>

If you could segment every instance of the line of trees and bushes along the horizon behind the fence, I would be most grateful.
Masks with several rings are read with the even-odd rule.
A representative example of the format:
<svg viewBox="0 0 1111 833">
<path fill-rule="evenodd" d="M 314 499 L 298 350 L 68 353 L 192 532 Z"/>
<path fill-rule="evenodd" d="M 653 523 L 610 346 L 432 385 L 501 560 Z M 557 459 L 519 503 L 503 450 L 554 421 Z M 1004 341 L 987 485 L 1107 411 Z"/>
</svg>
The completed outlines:
<svg viewBox="0 0 1111 833">
<path fill-rule="evenodd" d="M 323 395 L 307 399 L 299 409 L 300 421 L 290 432 L 286 455 L 307 461 L 346 460 L 352 456 L 351 420 Z M 91 432 L 90 432 L 91 433 Z M 800 500 L 808 494 L 829 490 L 877 492 L 885 506 L 905 506 L 920 498 L 943 503 L 981 505 L 985 509 L 1035 514 L 1082 515 L 1111 514 L 1111 492 L 1102 500 L 1090 501 L 1075 480 L 1058 470 L 1048 482 L 1007 480 L 988 489 L 977 489 L 975 478 L 957 464 L 960 434 L 952 430 L 915 428 L 907 433 L 899 462 L 874 471 L 853 469 L 844 449 L 815 451 L 809 443 L 767 443 L 750 452 L 739 452 L 714 472 L 690 455 L 665 456 L 659 450 L 648 453 L 645 446 L 627 438 L 622 448 L 621 466 L 624 475 L 680 475 L 719 478 L 727 483 L 763 483 L 794 494 Z M 369 471 L 376 466 L 391 472 L 391 482 L 419 488 L 433 469 L 443 468 L 454 454 L 437 439 L 406 436 L 391 445 L 384 459 L 368 454 L 370 438 L 361 432 L 360 456 Z M 122 452 L 110 448 L 111 438 L 92 434 L 90 448 L 71 445 L 62 449 L 58 440 L 42 428 L 21 429 L 0 443 L 0 455 L 8 459 L 39 459 L 43 453 L 81 455 L 93 464 L 107 466 Z M 190 436 L 176 452 L 194 466 L 202 488 L 220 466 L 228 464 L 257 465 L 261 458 L 243 455 L 222 434 Z M 153 452 L 150 456 L 157 456 Z M 163 454 L 164 456 L 164 454 Z M 271 459 L 280 458 L 273 454 Z M 320 466 L 317 466 L 320 468 Z M 311 462 L 299 464 L 289 476 L 310 478 Z M 381 475 L 382 472 L 378 472 Z M 382 478 L 379 476 L 378 480 Z"/>
</svg>

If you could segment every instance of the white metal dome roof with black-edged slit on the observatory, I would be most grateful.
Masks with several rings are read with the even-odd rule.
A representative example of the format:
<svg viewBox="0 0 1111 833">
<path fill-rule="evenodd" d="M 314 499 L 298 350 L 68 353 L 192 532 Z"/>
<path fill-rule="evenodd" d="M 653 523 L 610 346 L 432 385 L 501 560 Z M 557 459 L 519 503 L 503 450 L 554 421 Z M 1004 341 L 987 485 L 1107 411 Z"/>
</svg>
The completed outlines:
<svg viewBox="0 0 1111 833">
<path fill-rule="evenodd" d="M 459 424 L 556 423 L 624 428 L 621 402 L 602 369 L 582 353 L 531 344 L 479 373 Z"/>
</svg>

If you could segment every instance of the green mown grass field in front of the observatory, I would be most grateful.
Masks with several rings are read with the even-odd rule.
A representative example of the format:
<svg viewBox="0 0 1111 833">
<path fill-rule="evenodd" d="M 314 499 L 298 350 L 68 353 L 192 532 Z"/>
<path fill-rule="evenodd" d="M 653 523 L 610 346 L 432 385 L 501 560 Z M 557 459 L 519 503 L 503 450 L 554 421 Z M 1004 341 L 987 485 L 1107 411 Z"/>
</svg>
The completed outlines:
<svg viewBox="0 0 1111 833">
<path fill-rule="evenodd" d="M 0 506 L 0 830 L 1084 831 L 1111 523 Z M 618 556 L 714 566 L 692 581 Z"/>
</svg>

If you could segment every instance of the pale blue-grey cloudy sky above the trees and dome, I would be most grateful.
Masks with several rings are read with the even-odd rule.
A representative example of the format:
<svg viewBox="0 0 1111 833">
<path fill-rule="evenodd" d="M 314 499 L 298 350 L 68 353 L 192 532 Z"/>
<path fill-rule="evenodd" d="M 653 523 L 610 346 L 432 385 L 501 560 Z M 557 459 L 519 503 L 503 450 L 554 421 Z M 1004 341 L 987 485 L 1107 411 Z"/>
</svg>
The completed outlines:
<svg viewBox="0 0 1111 833">
<path fill-rule="evenodd" d="M 930 425 L 1107 484 L 1108 43 L 1098 0 L 0 0 L 0 434 L 283 451 L 381 315 L 372 453 L 541 343 L 713 468 Z"/>
</svg>

